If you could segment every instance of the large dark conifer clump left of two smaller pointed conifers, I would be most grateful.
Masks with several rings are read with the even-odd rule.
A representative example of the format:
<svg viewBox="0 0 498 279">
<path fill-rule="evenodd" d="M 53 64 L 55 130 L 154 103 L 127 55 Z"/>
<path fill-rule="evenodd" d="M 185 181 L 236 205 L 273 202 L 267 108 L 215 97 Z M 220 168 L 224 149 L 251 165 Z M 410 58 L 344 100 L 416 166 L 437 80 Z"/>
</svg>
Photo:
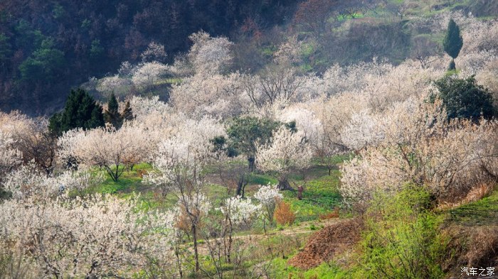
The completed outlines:
<svg viewBox="0 0 498 279">
<path fill-rule="evenodd" d="M 102 106 L 83 89 L 71 90 L 65 108 L 49 119 L 48 128 L 60 136 L 73 128 L 96 128 L 104 126 Z"/>
</svg>

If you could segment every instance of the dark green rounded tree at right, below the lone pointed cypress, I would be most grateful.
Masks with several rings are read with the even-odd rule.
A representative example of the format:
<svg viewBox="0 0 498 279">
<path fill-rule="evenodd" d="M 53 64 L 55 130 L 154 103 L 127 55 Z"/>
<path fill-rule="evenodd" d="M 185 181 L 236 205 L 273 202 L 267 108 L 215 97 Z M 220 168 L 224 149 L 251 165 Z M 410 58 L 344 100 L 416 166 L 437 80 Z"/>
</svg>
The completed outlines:
<svg viewBox="0 0 498 279">
<path fill-rule="evenodd" d="M 493 97 L 489 90 L 477 84 L 475 77 L 459 79 L 455 76 L 443 77 L 435 82 L 438 97 L 443 100 L 448 119 L 465 118 L 479 119 L 494 116 Z"/>
</svg>

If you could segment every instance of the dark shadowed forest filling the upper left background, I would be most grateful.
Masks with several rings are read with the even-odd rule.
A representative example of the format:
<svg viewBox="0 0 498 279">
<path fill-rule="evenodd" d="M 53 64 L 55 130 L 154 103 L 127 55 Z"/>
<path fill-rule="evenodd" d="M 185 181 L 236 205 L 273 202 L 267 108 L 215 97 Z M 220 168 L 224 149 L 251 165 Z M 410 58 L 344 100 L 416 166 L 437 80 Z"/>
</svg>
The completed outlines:
<svg viewBox="0 0 498 279">
<path fill-rule="evenodd" d="M 297 1 L 1 1 L 0 104 L 46 114 L 68 89 L 139 60 L 151 41 L 172 60 L 189 35 L 242 36 L 283 24 Z M 251 28 L 254 28 L 251 29 Z"/>
</svg>

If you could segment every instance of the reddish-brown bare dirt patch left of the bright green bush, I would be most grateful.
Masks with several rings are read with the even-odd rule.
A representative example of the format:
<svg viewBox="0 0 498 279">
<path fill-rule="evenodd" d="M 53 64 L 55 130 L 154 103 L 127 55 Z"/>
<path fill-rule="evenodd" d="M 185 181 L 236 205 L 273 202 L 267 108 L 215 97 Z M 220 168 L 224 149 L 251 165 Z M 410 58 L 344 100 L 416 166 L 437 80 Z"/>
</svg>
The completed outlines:
<svg viewBox="0 0 498 279">
<path fill-rule="evenodd" d="M 309 236 L 304 249 L 289 260 L 291 266 L 309 269 L 334 259 L 350 250 L 360 240 L 363 224 L 359 219 L 346 219 Z"/>
</svg>

